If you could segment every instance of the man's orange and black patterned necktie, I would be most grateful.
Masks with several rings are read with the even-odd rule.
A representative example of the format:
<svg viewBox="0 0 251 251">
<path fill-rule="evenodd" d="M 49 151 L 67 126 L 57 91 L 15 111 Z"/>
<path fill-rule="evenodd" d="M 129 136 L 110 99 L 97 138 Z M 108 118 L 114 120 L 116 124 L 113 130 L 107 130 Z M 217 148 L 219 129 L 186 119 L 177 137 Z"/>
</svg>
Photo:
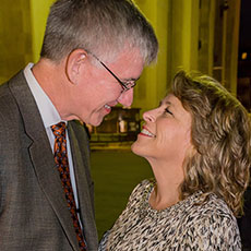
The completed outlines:
<svg viewBox="0 0 251 251">
<path fill-rule="evenodd" d="M 65 123 L 60 122 L 51 125 L 51 130 L 55 134 L 55 162 L 60 175 L 61 183 L 65 194 L 68 208 L 71 212 L 71 218 L 75 228 L 76 238 L 79 241 L 80 250 L 86 250 L 82 229 L 77 218 L 74 194 L 71 186 L 68 154 L 67 154 L 67 138 L 65 138 Z"/>
</svg>

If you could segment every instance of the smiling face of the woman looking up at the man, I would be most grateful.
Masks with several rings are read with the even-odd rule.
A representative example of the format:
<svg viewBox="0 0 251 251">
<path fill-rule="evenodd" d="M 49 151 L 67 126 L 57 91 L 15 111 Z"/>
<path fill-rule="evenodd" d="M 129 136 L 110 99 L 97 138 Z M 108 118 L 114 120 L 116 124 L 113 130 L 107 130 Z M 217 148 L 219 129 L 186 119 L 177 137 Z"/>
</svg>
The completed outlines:
<svg viewBox="0 0 251 251">
<path fill-rule="evenodd" d="M 144 112 L 144 125 L 132 152 L 145 157 L 183 162 L 191 146 L 191 115 L 174 95 L 165 97 L 159 107 Z"/>
</svg>

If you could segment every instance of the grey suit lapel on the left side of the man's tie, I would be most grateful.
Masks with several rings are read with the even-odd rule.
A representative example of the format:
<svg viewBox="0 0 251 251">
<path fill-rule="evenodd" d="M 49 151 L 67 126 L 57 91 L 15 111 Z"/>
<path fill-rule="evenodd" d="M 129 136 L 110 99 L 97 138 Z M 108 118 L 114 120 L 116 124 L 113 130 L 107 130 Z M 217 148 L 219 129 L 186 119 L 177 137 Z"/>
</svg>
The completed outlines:
<svg viewBox="0 0 251 251">
<path fill-rule="evenodd" d="M 38 183 L 59 218 L 72 247 L 79 250 L 79 243 L 71 215 L 67 207 L 65 196 L 48 136 L 39 110 L 23 73 L 19 73 L 13 81 L 9 82 L 9 86 L 20 108 L 25 132 L 33 141 L 29 146 L 29 153 Z"/>
</svg>

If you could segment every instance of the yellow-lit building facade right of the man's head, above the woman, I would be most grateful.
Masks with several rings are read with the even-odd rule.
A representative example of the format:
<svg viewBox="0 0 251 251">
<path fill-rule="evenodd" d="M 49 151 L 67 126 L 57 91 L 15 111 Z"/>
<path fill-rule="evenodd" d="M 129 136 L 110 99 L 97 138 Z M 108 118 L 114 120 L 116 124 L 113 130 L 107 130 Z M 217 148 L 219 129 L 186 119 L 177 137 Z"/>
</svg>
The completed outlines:
<svg viewBox="0 0 251 251">
<path fill-rule="evenodd" d="M 155 68 L 135 89 L 135 106 L 158 105 L 181 68 L 210 74 L 237 93 L 240 0 L 136 0 L 159 39 Z"/>
</svg>

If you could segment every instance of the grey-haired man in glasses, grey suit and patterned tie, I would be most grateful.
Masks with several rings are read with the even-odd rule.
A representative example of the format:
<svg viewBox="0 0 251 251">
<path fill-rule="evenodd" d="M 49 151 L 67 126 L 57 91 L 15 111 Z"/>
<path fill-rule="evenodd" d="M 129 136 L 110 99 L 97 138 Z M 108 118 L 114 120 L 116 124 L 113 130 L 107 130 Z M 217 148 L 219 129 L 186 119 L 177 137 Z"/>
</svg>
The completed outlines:
<svg viewBox="0 0 251 251">
<path fill-rule="evenodd" d="M 0 87 L 0 249 L 97 250 L 88 140 L 157 57 L 130 0 L 57 0 L 40 60 Z M 65 131 L 67 124 L 67 131 Z"/>
</svg>

